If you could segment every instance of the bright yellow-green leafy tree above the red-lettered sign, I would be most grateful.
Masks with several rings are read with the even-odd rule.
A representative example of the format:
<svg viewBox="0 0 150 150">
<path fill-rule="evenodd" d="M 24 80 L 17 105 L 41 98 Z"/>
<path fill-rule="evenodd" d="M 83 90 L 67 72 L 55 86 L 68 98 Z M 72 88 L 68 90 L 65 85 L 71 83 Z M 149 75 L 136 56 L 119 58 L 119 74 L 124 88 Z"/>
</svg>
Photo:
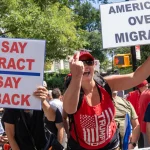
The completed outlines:
<svg viewBox="0 0 150 150">
<path fill-rule="evenodd" d="M 76 15 L 69 8 L 49 1 L 45 6 L 34 0 L 3 0 L 0 26 L 10 31 L 9 37 L 45 39 L 51 60 L 66 58 L 87 44 L 85 31 L 76 30 Z"/>
</svg>

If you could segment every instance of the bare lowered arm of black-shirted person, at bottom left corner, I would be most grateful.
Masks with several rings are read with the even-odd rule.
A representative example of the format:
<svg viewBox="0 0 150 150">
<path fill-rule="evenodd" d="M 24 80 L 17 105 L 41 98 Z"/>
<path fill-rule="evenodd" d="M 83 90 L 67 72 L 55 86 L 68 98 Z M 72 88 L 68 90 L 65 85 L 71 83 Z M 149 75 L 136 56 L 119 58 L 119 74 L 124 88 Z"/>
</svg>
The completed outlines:
<svg viewBox="0 0 150 150">
<path fill-rule="evenodd" d="M 8 141 L 10 143 L 12 150 L 20 150 L 16 140 L 15 140 L 15 126 L 14 124 L 4 123 L 5 131 L 8 137 Z"/>
</svg>

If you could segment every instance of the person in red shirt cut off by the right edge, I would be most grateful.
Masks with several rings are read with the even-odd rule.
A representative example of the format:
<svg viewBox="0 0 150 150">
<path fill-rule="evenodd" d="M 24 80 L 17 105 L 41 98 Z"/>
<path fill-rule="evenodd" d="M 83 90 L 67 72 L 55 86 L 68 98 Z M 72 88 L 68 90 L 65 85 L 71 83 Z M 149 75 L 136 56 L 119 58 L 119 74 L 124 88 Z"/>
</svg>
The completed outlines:
<svg viewBox="0 0 150 150">
<path fill-rule="evenodd" d="M 147 128 L 146 126 L 148 123 L 145 122 L 144 116 L 149 115 L 146 112 L 146 109 L 148 107 L 148 104 L 150 103 L 150 89 L 147 89 L 142 92 L 140 99 L 139 99 L 139 105 L 140 105 L 140 129 L 143 134 L 144 138 L 144 148 L 145 147 L 150 147 L 150 143 L 148 142 L 148 136 L 147 136 Z"/>
</svg>

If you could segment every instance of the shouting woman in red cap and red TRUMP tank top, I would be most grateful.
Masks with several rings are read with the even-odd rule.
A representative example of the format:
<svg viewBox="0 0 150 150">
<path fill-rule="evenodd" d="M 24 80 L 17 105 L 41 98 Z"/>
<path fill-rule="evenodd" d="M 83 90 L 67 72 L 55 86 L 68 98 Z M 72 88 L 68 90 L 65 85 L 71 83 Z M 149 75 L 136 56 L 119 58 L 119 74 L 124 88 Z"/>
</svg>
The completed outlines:
<svg viewBox="0 0 150 150">
<path fill-rule="evenodd" d="M 135 72 L 104 77 L 103 83 L 112 91 L 132 88 L 149 76 L 149 65 L 150 57 Z M 110 91 L 94 80 L 94 57 L 87 51 L 77 52 L 70 58 L 70 71 L 71 81 L 63 97 L 65 112 L 73 116 L 68 150 L 117 150 L 115 108 Z"/>
</svg>

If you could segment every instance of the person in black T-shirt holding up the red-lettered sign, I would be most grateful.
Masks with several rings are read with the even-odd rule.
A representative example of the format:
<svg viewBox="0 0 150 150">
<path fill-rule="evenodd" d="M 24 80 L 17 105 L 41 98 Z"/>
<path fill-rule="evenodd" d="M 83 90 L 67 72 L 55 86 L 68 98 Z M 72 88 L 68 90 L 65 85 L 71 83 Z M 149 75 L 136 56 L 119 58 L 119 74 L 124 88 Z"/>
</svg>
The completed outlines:
<svg viewBox="0 0 150 150">
<path fill-rule="evenodd" d="M 41 110 L 5 109 L 2 121 L 12 150 L 34 150 L 35 148 L 41 150 L 45 147 L 44 113 L 48 120 L 55 120 L 55 111 L 46 100 L 47 94 L 48 91 L 43 86 L 39 86 L 33 93 L 41 101 L 44 112 Z M 31 135 L 34 142 L 31 140 Z"/>
</svg>

